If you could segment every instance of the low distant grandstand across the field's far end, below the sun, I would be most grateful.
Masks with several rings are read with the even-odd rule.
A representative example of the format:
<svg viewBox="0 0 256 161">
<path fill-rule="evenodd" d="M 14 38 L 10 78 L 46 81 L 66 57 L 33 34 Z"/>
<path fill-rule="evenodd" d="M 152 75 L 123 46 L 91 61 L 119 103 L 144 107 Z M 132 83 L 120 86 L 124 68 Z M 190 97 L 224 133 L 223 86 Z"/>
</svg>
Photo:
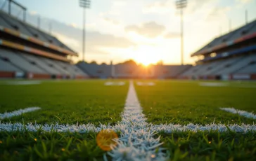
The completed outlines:
<svg viewBox="0 0 256 161">
<path fill-rule="evenodd" d="M 87 64 L 77 63 L 77 66 L 91 78 L 178 78 L 181 73 L 192 65 L 138 65 L 132 64 Z"/>
</svg>

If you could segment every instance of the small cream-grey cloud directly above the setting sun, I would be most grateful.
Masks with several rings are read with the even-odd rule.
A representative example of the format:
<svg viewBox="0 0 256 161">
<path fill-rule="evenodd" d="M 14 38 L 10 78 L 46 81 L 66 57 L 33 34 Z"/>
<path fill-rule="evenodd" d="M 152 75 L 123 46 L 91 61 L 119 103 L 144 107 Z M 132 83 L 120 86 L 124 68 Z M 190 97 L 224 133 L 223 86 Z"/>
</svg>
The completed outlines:
<svg viewBox="0 0 256 161">
<path fill-rule="evenodd" d="M 155 38 L 165 31 L 165 26 L 158 25 L 156 22 L 145 22 L 139 26 L 129 25 L 125 27 L 125 31 L 133 31 L 136 34 L 140 34 L 148 38 Z"/>
</svg>

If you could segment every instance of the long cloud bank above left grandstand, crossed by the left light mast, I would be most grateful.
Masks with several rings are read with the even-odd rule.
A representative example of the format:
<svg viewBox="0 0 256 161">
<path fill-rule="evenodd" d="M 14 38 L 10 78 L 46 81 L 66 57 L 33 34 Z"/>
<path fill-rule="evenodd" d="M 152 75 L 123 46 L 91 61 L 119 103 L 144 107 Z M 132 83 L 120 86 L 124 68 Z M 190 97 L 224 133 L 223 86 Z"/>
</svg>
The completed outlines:
<svg viewBox="0 0 256 161">
<path fill-rule="evenodd" d="M 28 22 L 37 22 L 37 15 L 28 14 Z M 60 41 L 75 50 L 82 53 L 82 29 L 75 23 L 66 24 L 49 18 L 41 18 L 41 29 L 49 29 L 52 26 L 52 34 Z M 88 25 L 88 24 L 87 24 Z M 129 48 L 136 45 L 127 38 L 114 36 L 113 34 L 103 34 L 99 31 L 86 31 L 86 51 L 88 55 L 108 55 L 108 50 L 102 48 Z"/>
</svg>

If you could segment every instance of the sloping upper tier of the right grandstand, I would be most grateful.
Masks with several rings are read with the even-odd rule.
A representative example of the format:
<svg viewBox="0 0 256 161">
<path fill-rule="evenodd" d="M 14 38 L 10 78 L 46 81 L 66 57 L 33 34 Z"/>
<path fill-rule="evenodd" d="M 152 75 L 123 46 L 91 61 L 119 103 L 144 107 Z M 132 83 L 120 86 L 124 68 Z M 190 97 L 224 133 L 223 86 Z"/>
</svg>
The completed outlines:
<svg viewBox="0 0 256 161">
<path fill-rule="evenodd" d="M 256 20 L 240 27 L 234 31 L 229 32 L 223 36 L 215 38 L 213 41 L 205 45 L 203 48 L 193 53 L 191 57 L 198 55 L 207 55 L 211 52 L 241 43 L 243 41 L 256 38 Z"/>
</svg>

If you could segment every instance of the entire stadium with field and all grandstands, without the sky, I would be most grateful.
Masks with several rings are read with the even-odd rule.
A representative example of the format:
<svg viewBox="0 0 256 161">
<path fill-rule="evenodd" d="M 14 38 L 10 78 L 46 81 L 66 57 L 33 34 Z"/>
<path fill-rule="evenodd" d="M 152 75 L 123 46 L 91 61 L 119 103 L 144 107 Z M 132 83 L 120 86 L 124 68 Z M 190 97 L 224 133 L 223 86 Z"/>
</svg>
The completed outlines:
<svg viewBox="0 0 256 161">
<path fill-rule="evenodd" d="M 256 20 L 191 64 L 96 64 L 3 2 L 0 160 L 256 160 Z"/>
</svg>

